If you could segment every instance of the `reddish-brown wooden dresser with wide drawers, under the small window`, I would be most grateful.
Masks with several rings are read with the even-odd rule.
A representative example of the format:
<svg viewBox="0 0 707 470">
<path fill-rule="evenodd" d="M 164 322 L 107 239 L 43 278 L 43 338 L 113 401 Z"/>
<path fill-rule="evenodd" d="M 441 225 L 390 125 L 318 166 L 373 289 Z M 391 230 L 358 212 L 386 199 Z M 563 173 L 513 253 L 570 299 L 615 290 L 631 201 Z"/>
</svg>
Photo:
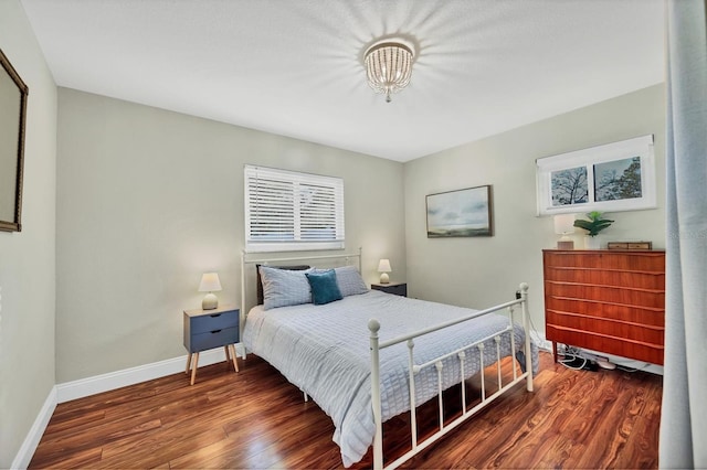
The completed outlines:
<svg viewBox="0 0 707 470">
<path fill-rule="evenodd" d="M 553 343 L 663 365 L 665 252 L 542 250 L 545 332 Z"/>
</svg>

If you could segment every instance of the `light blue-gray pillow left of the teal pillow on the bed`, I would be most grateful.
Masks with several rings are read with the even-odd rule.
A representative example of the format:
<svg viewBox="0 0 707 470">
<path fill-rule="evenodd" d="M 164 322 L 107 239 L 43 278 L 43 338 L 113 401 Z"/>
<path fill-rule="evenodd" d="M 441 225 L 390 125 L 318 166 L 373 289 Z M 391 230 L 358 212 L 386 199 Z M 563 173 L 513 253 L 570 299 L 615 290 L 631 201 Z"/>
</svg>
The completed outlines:
<svg viewBox="0 0 707 470">
<path fill-rule="evenodd" d="M 305 276 L 305 273 L 312 273 L 312 269 L 287 270 L 261 266 L 260 271 L 265 310 L 312 302 L 309 281 Z"/>
</svg>

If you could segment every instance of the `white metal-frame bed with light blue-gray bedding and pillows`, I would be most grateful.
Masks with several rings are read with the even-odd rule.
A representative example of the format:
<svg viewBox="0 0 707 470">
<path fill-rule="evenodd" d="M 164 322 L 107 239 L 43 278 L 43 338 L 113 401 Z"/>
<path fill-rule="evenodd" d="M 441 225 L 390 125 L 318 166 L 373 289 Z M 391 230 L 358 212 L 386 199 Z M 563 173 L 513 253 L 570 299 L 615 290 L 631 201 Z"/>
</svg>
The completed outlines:
<svg viewBox="0 0 707 470">
<path fill-rule="evenodd" d="M 346 259 L 354 257 L 347 255 Z M 434 442 L 520 381 L 527 382 L 528 391 L 532 389 L 537 348 L 525 334 L 527 328 L 511 320 L 514 310 L 527 316 L 527 286 L 523 286 L 520 299 L 474 311 L 369 290 L 359 275 L 360 267 L 312 268 L 315 263 L 320 266 L 323 259 L 307 259 L 312 265 L 299 264 L 294 270 L 282 266 L 283 260 L 267 261 L 277 267 L 244 260 L 244 268 L 249 263 L 255 264 L 263 299 L 249 309 L 242 341 L 247 352 L 276 367 L 331 417 L 336 429 L 333 439 L 340 448 L 345 467 L 359 461 L 373 445 L 373 467 L 382 468 L 382 423 L 393 416 L 411 413 L 413 438 L 411 450 L 389 461 L 390 468 Z M 360 266 L 360 254 L 358 263 Z M 334 277 L 340 296 L 334 300 L 323 297 L 321 289 L 313 284 L 323 282 L 318 277 L 328 277 L 329 287 Z M 242 293 L 245 298 L 245 291 Z M 321 302 L 323 299 L 327 301 Z M 439 437 L 418 442 L 416 406 L 435 396 L 443 406 L 442 391 L 509 355 L 519 360 L 523 372 L 514 367 L 511 382 L 484 396 L 479 404 L 483 406 L 464 408 L 452 423 L 444 423 L 440 410 Z"/>
</svg>

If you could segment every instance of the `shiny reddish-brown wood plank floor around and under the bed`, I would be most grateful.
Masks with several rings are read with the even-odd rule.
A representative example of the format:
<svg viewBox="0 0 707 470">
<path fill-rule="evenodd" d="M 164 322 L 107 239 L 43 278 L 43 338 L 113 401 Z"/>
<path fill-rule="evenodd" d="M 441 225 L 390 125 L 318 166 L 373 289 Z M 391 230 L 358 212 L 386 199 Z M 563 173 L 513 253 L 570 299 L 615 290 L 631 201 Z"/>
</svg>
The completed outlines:
<svg viewBox="0 0 707 470">
<path fill-rule="evenodd" d="M 518 386 L 403 468 L 657 468 L 661 376 L 540 359 L 534 393 Z M 202 367 L 193 386 L 175 374 L 60 404 L 30 468 L 342 467 L 331 420 L 316 404 L 256 356 L 240 366 Z M 495 376 L 486 371 L 488 383 Z M 434 425 L 436 410 L 421 414 Z M 387 423 L 388 450 L 408 441 L 405 420 Z M 355 467 L 371 463 L 369 451 Z"/>
</svg>

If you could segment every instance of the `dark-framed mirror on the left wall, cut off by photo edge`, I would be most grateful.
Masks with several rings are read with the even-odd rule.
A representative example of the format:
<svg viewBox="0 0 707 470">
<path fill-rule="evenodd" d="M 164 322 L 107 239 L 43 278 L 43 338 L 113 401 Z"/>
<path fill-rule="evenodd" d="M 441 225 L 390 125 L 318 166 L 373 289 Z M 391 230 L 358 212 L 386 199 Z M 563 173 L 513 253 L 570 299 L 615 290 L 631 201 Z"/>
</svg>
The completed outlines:
<svg viewBox="0 0 707 470">
<path fill-rule="evenodd" d="M 29 89 L 0 50 L 0 231 L 20 232 Z"/>
</svg>

